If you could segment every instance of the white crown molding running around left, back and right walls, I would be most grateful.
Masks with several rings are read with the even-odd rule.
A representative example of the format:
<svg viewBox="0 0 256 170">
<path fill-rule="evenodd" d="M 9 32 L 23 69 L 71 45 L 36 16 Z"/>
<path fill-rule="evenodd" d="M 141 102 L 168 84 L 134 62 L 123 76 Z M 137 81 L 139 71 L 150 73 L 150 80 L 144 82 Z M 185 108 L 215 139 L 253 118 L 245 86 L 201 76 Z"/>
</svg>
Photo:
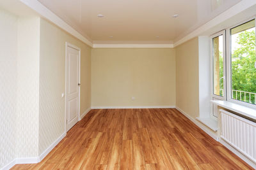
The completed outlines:
<svg viewBox="0 0 256 170">
<path fill-rule="evenodd" d="M 220 15 L 218 15 L 215 18 L 212 18 L 209 22 L 206 22 L 204 25 L 198 27 L 194 31 L 190 32 L 189 34 L 186 34 L 186 36 L 177 39 L 175 43 L 154 43 L 152 41 L 151 43 L 93 43 L 89 39 L 85 38 L 82 34 L 76 31 L 73 27 L 68 25 L 66 22 L 64 22 L 60 17 L 52 13 L 51 10 L 46 8 L 43 4 L 36 0 L 19 0 L 20 2 L 26 4 L 26 6 L 29 6 L 32 10 L 35 10 L 37 13 L 39 13 L 42 17 L 47 18 L 47 20 L 51 21 L 52 23 L 58 25 L 61 27 L 61 29 L 67 31 L 68 33 L 75 36 L 77 39 L 80 39 L 87 45 L 91 46 L 92 48 L 175 48 L 176 46 L 181 45 L 182 43 L 188 41 L 189 39 L 195 38 L 196 36 L 200 36 L 205 31 L 209 31 L 212 29 L 212 27 L 219 25 L 225 20 L 228 20 L 237 14 L 243 12 L 244 10 L 252 7 L 256 4 L 255 0 L 243 0 L 239 3 L 235 4 L 228 10 L 224 11 Z"/>
</svg>

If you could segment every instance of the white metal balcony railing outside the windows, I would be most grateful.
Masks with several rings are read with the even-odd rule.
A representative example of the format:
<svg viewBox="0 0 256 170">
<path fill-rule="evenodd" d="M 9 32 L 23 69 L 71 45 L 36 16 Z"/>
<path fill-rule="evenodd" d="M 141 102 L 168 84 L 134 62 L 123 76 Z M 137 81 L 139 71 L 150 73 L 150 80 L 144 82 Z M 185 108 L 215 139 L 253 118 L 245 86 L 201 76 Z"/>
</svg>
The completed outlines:
<svg viewBox="0 0 256 170">
<path fill-rule="evenodd" d="M 223 96 L 223 89 L 220 89 L 220 94 Z M 256 104 L 256 93 L 232 90 L 232 99 Z"/>
</svg>

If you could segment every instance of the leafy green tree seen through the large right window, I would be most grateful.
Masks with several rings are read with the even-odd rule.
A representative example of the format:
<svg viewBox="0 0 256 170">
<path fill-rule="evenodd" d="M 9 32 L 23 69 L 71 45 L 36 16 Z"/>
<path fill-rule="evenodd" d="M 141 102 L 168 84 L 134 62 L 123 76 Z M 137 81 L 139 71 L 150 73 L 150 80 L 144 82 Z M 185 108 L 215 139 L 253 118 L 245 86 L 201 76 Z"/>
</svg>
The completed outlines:
<svg viewBox="0 0 256 170">
<path fill-rule="evenodd" d="M 232 89 L 256 93 L 255 69 L 255 31 L 243 31 L 238 34 L 236 43 L 239 48 L 232 53 Z M 240 97 L 237 95 L 237 98 Z M 241 94 L 244 99 L 244 94 Z M 236 94 L 233 94 L 236 98 Z M 255 96 L 251 96 L 254 103 Z M 246 95 L 249 102 L 249 94 Z"/>
</svg>

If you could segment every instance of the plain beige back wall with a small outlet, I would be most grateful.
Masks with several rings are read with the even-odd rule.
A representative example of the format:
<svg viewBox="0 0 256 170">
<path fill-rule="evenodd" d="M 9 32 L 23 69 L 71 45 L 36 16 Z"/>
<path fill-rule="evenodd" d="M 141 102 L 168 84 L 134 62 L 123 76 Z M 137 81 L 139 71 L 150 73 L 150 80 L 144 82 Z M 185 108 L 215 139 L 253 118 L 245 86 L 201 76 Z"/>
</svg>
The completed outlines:
<svg viewBox="0 0 256 170">
<path fill-rule="evenodd" d="M 93 48 L 92 107 L 100 106 L 175 106 L 175 50 Z"/>
</svg>

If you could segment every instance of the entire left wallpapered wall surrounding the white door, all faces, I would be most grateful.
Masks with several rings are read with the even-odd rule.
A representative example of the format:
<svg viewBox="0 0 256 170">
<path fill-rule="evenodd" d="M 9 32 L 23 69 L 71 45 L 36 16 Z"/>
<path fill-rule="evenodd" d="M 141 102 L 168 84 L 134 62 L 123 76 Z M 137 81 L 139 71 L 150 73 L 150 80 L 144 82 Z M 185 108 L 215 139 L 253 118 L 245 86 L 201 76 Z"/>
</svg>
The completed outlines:
<svg viewBox="0 0 256 170">
<path fill-rule="evenodd" d="M 81 48 L 81 114 L 90 108 L 91 48 L 39 17 L 0 10 L 0 27 L 1 169 L 40 156 L 65 132 L 66 41 Z"/>
</svg>

